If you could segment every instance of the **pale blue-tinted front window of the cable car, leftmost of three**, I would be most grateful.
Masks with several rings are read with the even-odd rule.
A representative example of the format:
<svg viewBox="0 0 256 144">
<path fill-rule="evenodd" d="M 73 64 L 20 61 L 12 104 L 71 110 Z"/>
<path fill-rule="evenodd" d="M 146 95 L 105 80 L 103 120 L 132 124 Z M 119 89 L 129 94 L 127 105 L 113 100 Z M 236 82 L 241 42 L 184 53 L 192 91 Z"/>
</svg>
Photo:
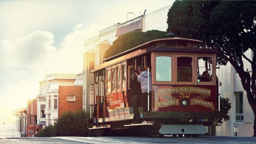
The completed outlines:
<svg viewBox="0 0 256 144">
<path fill-rule="evenodd" d="M 171 57 L 156 57 L 156 81 L 171 81 Z"/>
</svg>

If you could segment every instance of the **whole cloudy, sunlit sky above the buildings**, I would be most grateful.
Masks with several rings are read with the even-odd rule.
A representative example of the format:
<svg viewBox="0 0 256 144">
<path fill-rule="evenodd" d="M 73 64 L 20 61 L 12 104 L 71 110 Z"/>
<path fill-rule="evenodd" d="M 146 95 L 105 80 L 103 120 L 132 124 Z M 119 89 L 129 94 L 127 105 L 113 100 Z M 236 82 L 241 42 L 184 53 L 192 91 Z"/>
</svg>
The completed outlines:
<svg viewBox="0 0 256 144">
<path fill-rule="evenodd" d="M 173 0 L 0 0 L 0 115 L 39 94 L 46 74 L 81 73 L 84 40 Z M 128 15 L 129 16 L 129 15 Z M 131 19 L 128 17 L 128 19 Z M 0 118 L 1 121 L 1 118 Z"/>
</svg>

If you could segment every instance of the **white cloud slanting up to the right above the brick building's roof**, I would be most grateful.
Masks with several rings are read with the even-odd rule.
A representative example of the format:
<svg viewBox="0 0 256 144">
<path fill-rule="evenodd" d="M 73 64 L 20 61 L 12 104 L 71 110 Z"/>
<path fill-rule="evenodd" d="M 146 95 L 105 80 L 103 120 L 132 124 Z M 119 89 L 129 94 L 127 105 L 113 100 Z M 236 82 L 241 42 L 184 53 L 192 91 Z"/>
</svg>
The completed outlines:
<svg viewBox="0 0 256 144">
<path fill-rule="evenodd" d="M 83 24 L 74 26 L 66 35 L 56 57 L 47 66 L 47 73 L 80 73 L 83 70 L 84 40 L 99 33 L 99 26 Z"/>
</svg>

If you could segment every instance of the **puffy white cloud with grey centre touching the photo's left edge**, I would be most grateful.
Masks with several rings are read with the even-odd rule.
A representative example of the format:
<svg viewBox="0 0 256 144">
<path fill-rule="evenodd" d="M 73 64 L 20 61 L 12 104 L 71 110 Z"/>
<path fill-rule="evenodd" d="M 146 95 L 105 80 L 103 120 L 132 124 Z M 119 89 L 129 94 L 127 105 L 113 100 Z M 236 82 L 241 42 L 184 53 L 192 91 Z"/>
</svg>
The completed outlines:
<svg viewBox="0 0 256 144">
<path fill-rule="evenodd" d="M 0 65 L 5 68 L 38 68 L 56 55 L 52 46 L 54 36 L 46 31 L 34 31 L 25 37 L 17 38 L 13 43 L 7 40 L 1 43 Z"/>
</svg>

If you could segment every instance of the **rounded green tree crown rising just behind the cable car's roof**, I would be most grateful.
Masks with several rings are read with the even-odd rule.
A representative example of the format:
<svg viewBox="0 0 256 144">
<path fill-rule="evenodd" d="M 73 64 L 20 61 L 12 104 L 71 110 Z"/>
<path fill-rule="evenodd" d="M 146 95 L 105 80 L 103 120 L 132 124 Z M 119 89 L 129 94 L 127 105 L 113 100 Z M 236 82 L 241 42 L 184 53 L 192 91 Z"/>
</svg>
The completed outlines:
<svg viewBox="0 0 256 144">
<path fill-rule="evenodd" d="M 111 45 L 109 49 L 106 50 L 106 52 L 104 53 L 104 58 L 107 59 L 151 40 L 166 38 L 166 35 L 167 32 L 157 30 L 151 30 L 146 32 L 132 31 L 126 33 L 124 35 L 121 35 L 113 42 L 113 45 Z"/>
</svg>

